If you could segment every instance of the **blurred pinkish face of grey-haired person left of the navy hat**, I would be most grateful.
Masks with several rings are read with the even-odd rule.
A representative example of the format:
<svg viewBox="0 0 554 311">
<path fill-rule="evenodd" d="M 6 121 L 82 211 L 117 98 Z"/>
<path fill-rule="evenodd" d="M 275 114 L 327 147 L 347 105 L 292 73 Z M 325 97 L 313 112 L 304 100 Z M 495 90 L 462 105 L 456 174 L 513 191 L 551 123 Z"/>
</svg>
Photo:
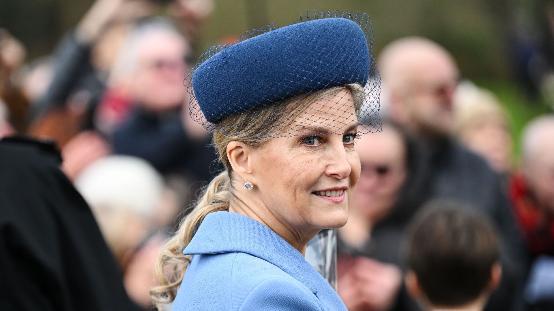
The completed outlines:
<svg viewBox="0 0 554 311">
<path fill-rule="evenodd" d="M 179 107 L 186 95 L 183 74 L 188 69 L 184 39 L 175 34 L 151 35 L 139 50 L 131 86 L 134 100 L 152 111 Z"/>
</svg>

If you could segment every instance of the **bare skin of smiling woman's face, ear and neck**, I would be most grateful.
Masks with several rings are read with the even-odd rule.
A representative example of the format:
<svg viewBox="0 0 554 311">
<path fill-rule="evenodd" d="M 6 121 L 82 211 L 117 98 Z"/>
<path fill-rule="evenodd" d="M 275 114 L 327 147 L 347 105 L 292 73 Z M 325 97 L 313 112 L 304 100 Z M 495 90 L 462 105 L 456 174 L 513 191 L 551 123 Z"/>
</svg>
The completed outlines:
<svg viewBox="0 0 554 311">
<path fill-rule="evenodd" d="M 258 149 L 238 141 L 227 146 L 234 193 L 229 211 L 268 226 L 302 255 L 321 229 L 346 224 L 360 177 L 354 149 L 358 125 L 350 92 L 314 101 L 305 113 L 304 122 L 294 123 L 299 136 L 270 138 Z M 345 117 L 332 118 L 338 113 Z M 243 189 L 246 181 L 253 190 Z M 331 196 L 321 195 L 325 190 Z"/>
</svg>

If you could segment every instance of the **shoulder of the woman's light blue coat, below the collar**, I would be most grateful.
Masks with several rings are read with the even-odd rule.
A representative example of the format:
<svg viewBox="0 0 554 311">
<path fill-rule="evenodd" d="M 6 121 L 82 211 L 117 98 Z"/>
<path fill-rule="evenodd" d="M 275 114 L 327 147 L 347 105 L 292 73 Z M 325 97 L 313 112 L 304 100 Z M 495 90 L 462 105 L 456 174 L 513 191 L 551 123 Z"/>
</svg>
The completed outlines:
<svg viewBox="0 0 554 311">
<path fill-rule="evenodd" d="M 321 310 L 304 284 L 242 252 L 194 255 L 173 310 Z"/>
</svg>

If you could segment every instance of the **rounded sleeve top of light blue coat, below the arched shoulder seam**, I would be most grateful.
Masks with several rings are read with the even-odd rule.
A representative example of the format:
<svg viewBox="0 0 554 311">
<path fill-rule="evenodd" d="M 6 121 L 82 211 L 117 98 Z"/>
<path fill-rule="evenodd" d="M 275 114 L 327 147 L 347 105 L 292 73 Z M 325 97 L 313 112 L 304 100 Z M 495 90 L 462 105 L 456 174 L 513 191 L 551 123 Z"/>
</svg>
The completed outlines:
<svg viewBox="0 0 554 311">
<path fill-rule="evenodd" d="M 240 305 L 247 310 L 301 310 L 320 311 L 315 295 L 305 286 L 289 278 L 273 277 L 256 286 Z"/>
</svg>

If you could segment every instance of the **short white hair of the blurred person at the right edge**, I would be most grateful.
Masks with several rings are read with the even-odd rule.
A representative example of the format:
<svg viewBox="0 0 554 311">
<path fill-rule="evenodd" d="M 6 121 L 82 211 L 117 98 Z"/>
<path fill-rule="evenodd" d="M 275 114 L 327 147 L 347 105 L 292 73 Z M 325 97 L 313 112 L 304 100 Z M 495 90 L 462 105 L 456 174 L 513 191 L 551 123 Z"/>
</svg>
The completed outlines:
<svg viewBox="0 0 554 311">
<path fill-rule="evenodd" d="M 554 144 L 554 115 L 537 117 L 525 126 L 522 134 L 524 162 L 531 160 L 545 144 Z"/>
</svg>

